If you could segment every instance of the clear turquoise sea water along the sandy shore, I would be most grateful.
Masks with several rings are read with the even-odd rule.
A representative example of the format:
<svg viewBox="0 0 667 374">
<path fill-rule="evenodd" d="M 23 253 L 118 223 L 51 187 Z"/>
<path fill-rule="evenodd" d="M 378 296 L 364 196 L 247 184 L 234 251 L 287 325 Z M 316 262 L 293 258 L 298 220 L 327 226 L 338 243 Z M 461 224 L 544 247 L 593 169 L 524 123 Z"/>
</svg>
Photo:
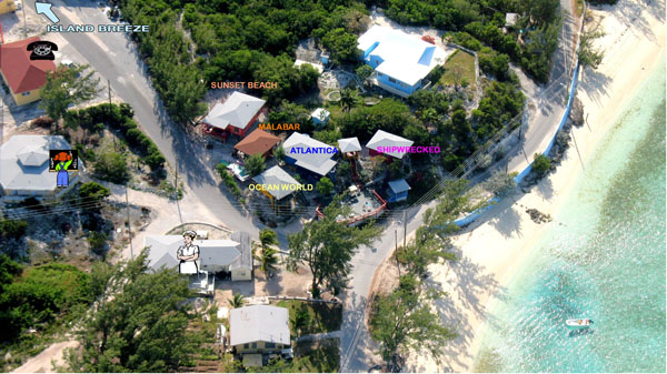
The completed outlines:
<svg viewBox="0 0 667 374">
<path fill-rule="evenodd" d="M 665 373 L 665 79 L 663 62 L 489 305 L 476 371 Z"/>
</svg>

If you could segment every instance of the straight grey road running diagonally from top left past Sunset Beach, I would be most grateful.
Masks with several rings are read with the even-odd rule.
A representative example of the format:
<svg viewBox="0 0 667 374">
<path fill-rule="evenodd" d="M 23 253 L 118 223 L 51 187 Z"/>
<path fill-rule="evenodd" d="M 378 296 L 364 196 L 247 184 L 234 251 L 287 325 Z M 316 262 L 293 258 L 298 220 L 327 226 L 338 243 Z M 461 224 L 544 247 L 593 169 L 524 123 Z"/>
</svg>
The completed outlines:
<svg viewBox="0 0 667 374">
<path fill-rule="evenodd" d="M 24 2 L 28 11 L 34 12 L 34 0 Z M 53 1 L 53 9 L 60 17 L 60 24 L 112 23 L 89 0 Z M 46 22 L 44 22 L 46 24 Z M 111 83 L 112 95 L 135 108 L 135 115 L 142 129 L 156 142 L 170 164 L 178 168 L 179 179 L 208 206 L 220 222 L 231 229 L 245 230 L 257 236 L 261 224 L 230 203 L 219 188 L 213 170 L 206 160 L 207 150 L 189 141 L 181 127 L 166 115 L 156 91 L 152 89 L 147 67 L 138 58 L 135 44 L 125 33 L 62 33 L 62 37 Z M 102 83 L 106 83 L 106 82 Z M 187 205 L 180 206 L 187 211 Z"/>
</svg>

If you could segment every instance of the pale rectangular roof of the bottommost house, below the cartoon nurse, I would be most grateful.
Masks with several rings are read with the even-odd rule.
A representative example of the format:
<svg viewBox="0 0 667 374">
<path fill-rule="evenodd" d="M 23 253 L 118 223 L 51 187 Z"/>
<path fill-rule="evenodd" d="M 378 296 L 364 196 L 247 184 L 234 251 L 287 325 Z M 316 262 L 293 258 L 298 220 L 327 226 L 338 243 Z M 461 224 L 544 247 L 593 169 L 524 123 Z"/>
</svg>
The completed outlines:
<svg viewBox="0 0 667 374">
<path fill-rule="evenodd" d="M 229 315 L 229 343 L 239 345 L 255 342 L 289 345 L 289 311 L 271 305 L 232 309 Z"/>
</svg>

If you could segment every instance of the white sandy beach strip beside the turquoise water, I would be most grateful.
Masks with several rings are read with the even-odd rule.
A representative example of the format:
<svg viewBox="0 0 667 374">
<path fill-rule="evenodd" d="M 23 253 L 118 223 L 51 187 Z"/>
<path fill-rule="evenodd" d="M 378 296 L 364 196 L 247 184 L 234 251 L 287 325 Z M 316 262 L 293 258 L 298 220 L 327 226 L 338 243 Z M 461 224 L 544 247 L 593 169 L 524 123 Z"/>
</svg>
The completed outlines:
<svg viewBox="0 0 667 374">
<path fill-rule="evenodd" d="M 574 128 L 574 137 L 586 160 L 620 114 L 628 99 L 650 71 L 665 59 L 665 1 L 621 0 L 615 7 L 589 10 L 594 27 L 601 19 L 606 32 L 596 44 L 605 59 L 596 70 L 585 69 L 578 98 L 587 125 Z M 573 144 L 570 144 L 573 145 Z M 555 215 L 571 190 L 581 164 L 570 146 L 558 170 L 530 193 L 506 199 L 487 211 L 456 237 L 461 260 L 452 265 L 434 265 L 429 281 L 449 297 L 436 303 L 459 337 L 444 347 L 446 357 L 435 362 L 427 352 L 410 355 L 409 372 L 470 372 L 479 345 L 479 332 L 487 321 L 491 295 L 501 292 L 526 254 L 556 221 L 537 224 L 526 209 Z"/>
</svg>

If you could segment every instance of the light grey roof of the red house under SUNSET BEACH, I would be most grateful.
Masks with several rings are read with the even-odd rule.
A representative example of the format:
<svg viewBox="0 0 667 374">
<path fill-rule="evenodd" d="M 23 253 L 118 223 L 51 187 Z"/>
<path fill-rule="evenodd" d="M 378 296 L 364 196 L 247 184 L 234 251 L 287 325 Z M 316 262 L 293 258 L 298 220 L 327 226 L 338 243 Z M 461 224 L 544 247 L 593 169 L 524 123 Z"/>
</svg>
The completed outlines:
<svg viewBox="0 0 667 374">
<path fill-rule="evenodd" d="M 217 103 L 203 122 L 222 130 L 228 125 L 242 130 L 248 127 L 265 103 L 265 100 L 236 91 L 225 103 Z"/>
</svg>

